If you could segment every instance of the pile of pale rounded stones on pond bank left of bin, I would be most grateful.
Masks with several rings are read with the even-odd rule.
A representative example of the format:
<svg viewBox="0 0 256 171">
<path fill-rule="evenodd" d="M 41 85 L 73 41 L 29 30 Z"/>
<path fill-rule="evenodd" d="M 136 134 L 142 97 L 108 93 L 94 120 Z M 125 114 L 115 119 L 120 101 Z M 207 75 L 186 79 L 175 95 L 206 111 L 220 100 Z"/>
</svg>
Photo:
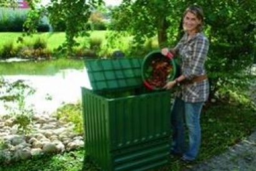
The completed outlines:
<svg viewBox="0 0 256 171">
<path fill-rule="evenodd" d="M 3 117 L 4 118 L 4 117 Z M 84 146 L 83 137 L 71 122 L 63 124 L 54 116 L 34 116 L 29 134 L 17 134 L 14 118 L 0 120 L 0 159 L 26 160 L 35 155 L 55 154 Z M 40 124 L 39 124 L 40 123 Z"/>
</svg>

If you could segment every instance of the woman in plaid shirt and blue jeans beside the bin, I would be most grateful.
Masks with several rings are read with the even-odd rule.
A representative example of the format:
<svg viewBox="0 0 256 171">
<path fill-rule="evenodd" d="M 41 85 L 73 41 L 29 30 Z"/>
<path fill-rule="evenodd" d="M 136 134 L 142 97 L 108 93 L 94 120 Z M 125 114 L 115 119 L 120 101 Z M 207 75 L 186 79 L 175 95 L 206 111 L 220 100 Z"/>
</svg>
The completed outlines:
<svg viewBox="0 0 256 171">
<path fill-rule="evenodd" d="M 200 148 L 200 113 L 209 96 L 209 81 L 205 71 L 205 59 L 209 40 L 202 33 L 203 11 L 199 6 L 188 7 L 183 16 L 185 34 L 174 49 L 162 49 L 163 55 L 179 55 L 181 75 L 169 81 L 165 89 L 180 85 L 175 94 L 171 111 L 172 154 L 182 155 L 182 160 L 194 160 Z M 189 130 L 189 146 L 185 147 L 185 125 Z"/>
</svg>

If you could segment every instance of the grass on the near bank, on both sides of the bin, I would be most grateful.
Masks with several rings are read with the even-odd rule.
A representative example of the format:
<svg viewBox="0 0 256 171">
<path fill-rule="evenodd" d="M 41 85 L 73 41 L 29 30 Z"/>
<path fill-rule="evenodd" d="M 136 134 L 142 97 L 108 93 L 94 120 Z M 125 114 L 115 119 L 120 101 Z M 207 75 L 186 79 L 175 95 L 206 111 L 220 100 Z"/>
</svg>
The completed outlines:
<svg viewBox="0 0 256 171">
<path fill-rule="evenodd" d="M 193 167 L 214 155 L 225 152 L 255 131 L 255 111 L 243 106 L 230 104 L 213 104 L 205 109 L 201 116 L 202 146 L 197 161 L 189 165 Z M 187 165 L 179 160 L 171 159 L 164 170 L 184 170 Z M 54 170 L 99 170 L 86 157 L 86 151 L 79 149 L 64 154 L 31 159 L 24 162 L 5 164 L 1 171 L 54 171 Z M 160 169 L 159 169 L 160 170 Z"/>
</svg>

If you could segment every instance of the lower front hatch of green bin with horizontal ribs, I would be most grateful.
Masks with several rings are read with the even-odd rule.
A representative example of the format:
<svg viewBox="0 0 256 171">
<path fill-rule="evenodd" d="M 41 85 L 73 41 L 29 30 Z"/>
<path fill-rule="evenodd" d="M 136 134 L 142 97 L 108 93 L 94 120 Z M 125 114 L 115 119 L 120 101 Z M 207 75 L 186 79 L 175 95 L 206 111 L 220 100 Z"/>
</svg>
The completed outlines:
<svg viewBox="0 0 256 171">
<path fill-rule="evenodd" d="M 155 170 L 169 164 L 169 137 L 145 142 L 111 153 L 110 170 Z"/>
</svg>

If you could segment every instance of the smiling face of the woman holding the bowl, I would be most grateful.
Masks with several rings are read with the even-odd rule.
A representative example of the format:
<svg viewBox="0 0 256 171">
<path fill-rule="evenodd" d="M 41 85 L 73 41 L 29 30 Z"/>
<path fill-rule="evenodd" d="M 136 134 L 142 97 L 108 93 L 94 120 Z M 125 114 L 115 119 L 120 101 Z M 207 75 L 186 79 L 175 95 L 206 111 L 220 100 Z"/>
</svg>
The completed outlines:
<svg viewBox="0 0 256 171">
<path fill-rule="evenodd" d="M 192 12 L 187 12 L 183 18 L 183 29 L 189 34 L 198 32 L 197 26 L 201 24 L 201 20 Z"/>
</svg>

